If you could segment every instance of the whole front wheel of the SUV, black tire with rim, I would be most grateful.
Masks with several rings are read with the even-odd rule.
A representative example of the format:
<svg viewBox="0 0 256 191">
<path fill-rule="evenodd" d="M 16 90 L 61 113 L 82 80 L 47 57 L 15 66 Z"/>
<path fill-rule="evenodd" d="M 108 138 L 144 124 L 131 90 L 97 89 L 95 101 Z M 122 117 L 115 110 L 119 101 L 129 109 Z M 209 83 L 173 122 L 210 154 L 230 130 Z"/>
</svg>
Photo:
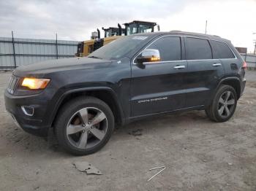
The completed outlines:
<svg viewBox="0 0 256 191">
<path fill-rule="evenodd" d="M 78 97 L 63 107 L 55 131 L 60 146 L 73 155 L 89 155 L 107 144 L 115 126 L 113 113 L 104 101 Z"/>
</svg>

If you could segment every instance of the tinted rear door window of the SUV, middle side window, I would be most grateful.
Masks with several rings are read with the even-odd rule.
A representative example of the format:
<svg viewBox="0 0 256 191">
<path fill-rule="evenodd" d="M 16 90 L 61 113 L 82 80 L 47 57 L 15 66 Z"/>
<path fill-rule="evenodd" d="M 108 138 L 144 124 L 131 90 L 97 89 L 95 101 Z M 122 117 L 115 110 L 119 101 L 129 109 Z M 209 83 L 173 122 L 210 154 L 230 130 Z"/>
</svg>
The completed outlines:
<svg viewBox="0 0 256 191">
<path fill-rule="evenodd" d="M 187 60 L 211 59 L 211 46 L 206 39 L 187 38 L 186 40 Z"/>
</svg>

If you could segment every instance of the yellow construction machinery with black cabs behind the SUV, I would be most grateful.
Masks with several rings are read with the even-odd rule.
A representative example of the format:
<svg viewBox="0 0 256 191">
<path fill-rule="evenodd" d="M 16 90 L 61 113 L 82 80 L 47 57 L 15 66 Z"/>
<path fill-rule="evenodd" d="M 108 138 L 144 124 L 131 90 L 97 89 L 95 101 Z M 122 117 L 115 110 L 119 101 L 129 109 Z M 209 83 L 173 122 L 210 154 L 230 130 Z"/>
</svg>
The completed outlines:
<svg viewBox="0 0 256 191">
<path fill-rule="evenodd" d="M 78 57 L 87 56 L 91 52 L 94 52 L 98 48 L 112 42 L 115 39 L 120 38 L 121 36 L 154 32 L 155 26 L 157 26 L 159 31 L 159 25 L 157 25 L 157 23 L 147 21 L 134 20 L 130 23 L 124 23 L 124 26 L 125 28 L 121 28 L 121 25 L 118 23 L 118 28 L 102 27 L 102 30 L 105 32 L 104 38 L 102 39 L 100 38 L 100 31 L 97 29 L 97 32 L 91 33 L 90 40 L 78 43 L 78 52 L 75 55 Z"/>
</svg>

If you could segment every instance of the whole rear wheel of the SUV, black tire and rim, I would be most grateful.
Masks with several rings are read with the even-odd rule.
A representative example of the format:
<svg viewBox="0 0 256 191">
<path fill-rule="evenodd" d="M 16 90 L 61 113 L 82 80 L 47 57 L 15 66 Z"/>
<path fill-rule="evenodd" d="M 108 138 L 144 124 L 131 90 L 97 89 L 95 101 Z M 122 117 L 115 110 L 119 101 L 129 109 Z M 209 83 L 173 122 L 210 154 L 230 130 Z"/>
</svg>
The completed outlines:
<svg viewBox="0 0 256 191">
<path fill-rule="evenodd" d="M 221 85 L 211 104 L 206 106 L 206 115 L 210 120 L 225 122 L 233 116 L 236 111 L 236 104 L 236 90 L 230 85 Z"/>
</svg>

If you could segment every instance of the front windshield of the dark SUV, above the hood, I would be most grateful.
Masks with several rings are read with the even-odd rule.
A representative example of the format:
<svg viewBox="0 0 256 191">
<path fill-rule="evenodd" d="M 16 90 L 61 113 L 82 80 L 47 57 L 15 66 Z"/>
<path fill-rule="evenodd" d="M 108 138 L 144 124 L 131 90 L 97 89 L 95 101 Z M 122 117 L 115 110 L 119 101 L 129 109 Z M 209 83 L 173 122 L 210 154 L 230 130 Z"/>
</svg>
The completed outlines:
<svg viewBox="0 0 256 191">
<path fill-rule="evenodd" d="M 115 41 L 92 52 L 88 57 L 115 60 L 127 55 L 127 53 L 131 52 L 147 38 L 148 36 L 121 36 Z"/>
</svg>

